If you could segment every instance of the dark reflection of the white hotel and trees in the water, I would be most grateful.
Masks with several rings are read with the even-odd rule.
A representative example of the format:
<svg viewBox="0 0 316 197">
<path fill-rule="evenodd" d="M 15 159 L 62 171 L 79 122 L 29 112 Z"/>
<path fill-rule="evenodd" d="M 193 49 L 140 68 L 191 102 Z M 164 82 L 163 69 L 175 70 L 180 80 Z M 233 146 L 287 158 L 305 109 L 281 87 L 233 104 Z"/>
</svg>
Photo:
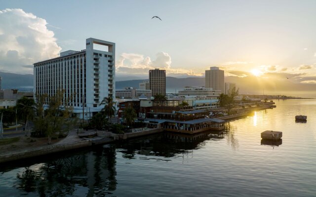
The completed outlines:
<svg viewBox="0 0 316 197">
<path fill-rule="evenodd" d="M 25 167 L 16 176 L 16 188 L 39 196 L 104 196 L 116 190 L 116 151 L 114 146 L 87 154 L 57 159 Z M 79 194 L 82 196 L 83 194 Z"/>
</svg>

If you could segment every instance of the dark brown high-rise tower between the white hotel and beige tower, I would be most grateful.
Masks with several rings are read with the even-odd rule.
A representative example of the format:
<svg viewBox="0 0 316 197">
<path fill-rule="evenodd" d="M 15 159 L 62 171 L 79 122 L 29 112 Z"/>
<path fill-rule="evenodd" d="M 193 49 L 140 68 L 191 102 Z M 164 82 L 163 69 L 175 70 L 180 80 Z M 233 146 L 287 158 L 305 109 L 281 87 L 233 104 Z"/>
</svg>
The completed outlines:
<svg viewBox="0 0 316 197">
<path fill-rule="evenodd" d="M 149 70 L 149 89 L 152 90 L 152 95 L 166 95 L 166 70 Z"/>
</svg>

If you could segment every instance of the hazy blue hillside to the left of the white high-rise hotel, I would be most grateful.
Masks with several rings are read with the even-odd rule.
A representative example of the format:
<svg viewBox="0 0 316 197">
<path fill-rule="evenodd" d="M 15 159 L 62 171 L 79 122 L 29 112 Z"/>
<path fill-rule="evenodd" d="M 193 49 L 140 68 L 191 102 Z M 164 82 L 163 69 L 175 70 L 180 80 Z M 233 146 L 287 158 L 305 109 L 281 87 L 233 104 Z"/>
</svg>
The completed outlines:
<svg viewBox="0 0 316 197">
<path fill-rule="evenodd" d="M 15 74 L 0 72 L 2 89 L 18 89 L 19 91 L 33 91 L 33 74 Z"/>
</svg>

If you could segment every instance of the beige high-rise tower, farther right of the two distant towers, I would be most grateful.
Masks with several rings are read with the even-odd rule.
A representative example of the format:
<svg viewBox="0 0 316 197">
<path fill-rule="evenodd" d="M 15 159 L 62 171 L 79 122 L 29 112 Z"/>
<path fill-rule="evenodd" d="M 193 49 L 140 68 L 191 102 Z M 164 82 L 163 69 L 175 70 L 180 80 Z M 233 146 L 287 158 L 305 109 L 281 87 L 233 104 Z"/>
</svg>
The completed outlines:
<svg viewBox="0 0 316 197">
<path fill-rule="evenodd" d="M 210 70 L 205 70 L 205 87 L 225 93 L 224 70 L 220 70 L 218 67 L 210 67 Z"/>
</svg>

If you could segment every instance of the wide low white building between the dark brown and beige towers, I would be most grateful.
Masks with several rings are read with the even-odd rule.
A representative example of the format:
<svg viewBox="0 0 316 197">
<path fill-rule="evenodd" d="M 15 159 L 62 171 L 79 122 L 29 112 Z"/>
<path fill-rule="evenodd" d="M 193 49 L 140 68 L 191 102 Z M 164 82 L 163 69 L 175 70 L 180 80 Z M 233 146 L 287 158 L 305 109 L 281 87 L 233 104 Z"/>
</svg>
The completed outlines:
<svg viewBox="0 0 316 197">
<path fill-rule="evenodd" d="M 212 97 L 217 98 L 221 94 L 220 90 L 213 90 L 205 87 L 185 87 L 184 90 L 178 92 L 178 96 L 197 96 L 197 97 Z"/>
</svg>

